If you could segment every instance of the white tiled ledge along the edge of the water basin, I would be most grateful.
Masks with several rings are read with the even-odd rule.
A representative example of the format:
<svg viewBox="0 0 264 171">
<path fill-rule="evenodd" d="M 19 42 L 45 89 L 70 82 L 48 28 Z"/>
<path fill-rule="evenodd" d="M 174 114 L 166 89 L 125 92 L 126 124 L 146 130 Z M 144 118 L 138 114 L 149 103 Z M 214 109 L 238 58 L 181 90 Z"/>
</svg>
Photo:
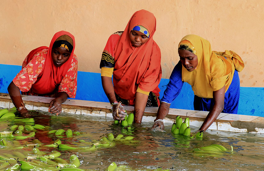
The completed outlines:
<svg viewBox="0 0 264 171">
<path fill-rule="evenodd" d="M 22 99 L 28 110 L 48 111 L 49 102 L 54 98 L 22 95 Z M 0 107 L 11 108 L 13 106 L 9 94 L 0 93 Z M 128 113 L 134 110 L 133 106 L 124 106 L 124 108 Z M 153 122 L 157 110 L 158 107 L 146 107 L 142 121 Z M 110 103 L 98 101 L 67 99 L 62 104 L 62 112 L 76 115 L 106 115 L 112 117 Z M 164 123 L 172 124 L 177 115 L 185 119 L 186 113 L 190 119 L 190 125 L 197 128 L 203 124 L 203 120 L 208 114 L 206 111 L 171 108 L 169 114 L 164 119 Z M 230 132 L 264 133 L 264 117 L 221 113 L 209 129 Z"/>
</svg>

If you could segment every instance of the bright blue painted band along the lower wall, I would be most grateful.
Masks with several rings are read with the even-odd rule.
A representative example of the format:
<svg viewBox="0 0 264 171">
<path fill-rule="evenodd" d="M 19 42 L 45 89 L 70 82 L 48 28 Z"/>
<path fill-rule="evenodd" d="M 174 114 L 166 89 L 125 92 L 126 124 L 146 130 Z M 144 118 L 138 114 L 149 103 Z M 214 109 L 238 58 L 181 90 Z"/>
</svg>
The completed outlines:
<svg viewBox="0 0 264 171">
<path fill-rule="evenodd" d="M 8 93 L 7 87 L 16 74 L 21 70 L 18 65 L 0 64 L 0 92 Z M 169 79 L 161 79 L 160 96 L 166 89 Z M 99 73 L 78 71 L 77 93 L 78 100 L 108 102 L 103 91 Z M 264 117 L 264 88 L 240 87 L 238 114 Z M 188 83 L 184 83 L 179 96 L 171 103 L 171 108 L 193 110 L 193 91 Z"/>
</svg>

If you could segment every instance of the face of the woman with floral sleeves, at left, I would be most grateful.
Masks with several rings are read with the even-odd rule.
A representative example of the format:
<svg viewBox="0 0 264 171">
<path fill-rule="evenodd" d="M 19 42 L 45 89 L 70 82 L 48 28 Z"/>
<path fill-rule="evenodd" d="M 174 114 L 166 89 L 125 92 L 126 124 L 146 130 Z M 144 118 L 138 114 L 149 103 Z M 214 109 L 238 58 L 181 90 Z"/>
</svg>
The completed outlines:
<svg viewBox="0 0 264 171">
<path fill-rule="evenodd" d="M 61 66 L 70 56 L 71 53 L 64 47 L 56 47 L 51 51 L 51 58 L 55 66 Z"/>
</svg>

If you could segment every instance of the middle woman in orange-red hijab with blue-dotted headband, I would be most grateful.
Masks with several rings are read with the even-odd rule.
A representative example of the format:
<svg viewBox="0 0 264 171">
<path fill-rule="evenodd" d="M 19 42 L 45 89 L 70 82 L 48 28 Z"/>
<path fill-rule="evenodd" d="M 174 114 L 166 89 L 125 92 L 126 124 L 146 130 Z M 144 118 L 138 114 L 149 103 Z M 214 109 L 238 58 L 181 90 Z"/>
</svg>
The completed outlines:
<svg viewBox="0 0 264 171">
<path fill-rule="evenodd" d="M 123 32 L 112 34 L 107 41 L 100 63 L 101 78 L 115 120 L 125 117 L 119 101 L 134 106 L 135 123 L 141 123 L 146 106 L 160 104 L 161 52 L 153 40 L 155 31 L 155 16 L 140 10 L 133 14 Z"/>
</svg>

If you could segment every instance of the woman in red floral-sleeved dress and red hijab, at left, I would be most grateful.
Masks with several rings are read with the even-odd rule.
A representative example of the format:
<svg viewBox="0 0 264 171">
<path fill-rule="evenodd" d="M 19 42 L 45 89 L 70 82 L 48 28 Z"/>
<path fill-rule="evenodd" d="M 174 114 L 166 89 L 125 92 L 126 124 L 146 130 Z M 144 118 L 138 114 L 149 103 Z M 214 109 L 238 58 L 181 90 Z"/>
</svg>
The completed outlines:
<svg viewBox="0 0 264 171">
<path fill-rule="evenodd" d="M 22 64 L 22 70 L 8 86 L 12 102 L 21 115 L 27 116 L 20 91 L 25 95 L 55 97 L 49 112 L 61 113 L 61 103 L 75 98 L 77 89 L 77 57 L 75 38 L 66 31 L 54 34 L 49 47 L 32 50 Z"/>
</svg>

